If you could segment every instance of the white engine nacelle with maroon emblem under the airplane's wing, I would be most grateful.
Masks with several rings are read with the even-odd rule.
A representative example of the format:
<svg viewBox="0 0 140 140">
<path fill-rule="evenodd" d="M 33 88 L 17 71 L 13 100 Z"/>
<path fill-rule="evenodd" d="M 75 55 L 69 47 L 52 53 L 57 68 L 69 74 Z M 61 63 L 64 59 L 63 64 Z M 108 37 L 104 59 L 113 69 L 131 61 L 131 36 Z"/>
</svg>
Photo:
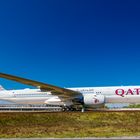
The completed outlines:
<svg viewBox="0 0 140 140">
<path fill-rule="evenodd" d="M 102 105 L 105 102 L 104 95 L 85 94 L 83 96 L 84 96 L 85 105 L 89 105 L 89 106 Z"/>
</svg>

